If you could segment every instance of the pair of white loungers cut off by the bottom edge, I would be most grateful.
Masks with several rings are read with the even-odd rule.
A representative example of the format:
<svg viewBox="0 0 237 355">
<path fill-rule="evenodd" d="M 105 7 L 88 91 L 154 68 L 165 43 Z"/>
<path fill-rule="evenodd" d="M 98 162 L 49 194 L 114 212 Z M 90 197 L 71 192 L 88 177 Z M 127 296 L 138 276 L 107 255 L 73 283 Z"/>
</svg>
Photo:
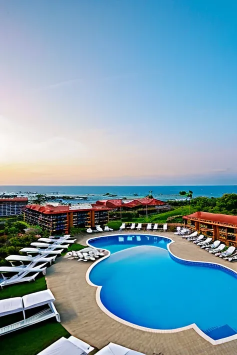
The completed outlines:
<svg viewBox="0 0 237 355">
<path fill-rule="evenodd" d="M 81 341 L 78 338 L 70 336 L 68 339 L 62 337 L 55 343 L 51 344 L 48 348 L 44 349 L 38 355 L 86 355 L 92 352 L 94 348 L 89 344 Z M 143 353 L 136 352 L 134 350 L 122 347 L 114 343 L 109 343 L 104 348 L 99 350 L 97 355 L 144 355 Z"/>
</svg>

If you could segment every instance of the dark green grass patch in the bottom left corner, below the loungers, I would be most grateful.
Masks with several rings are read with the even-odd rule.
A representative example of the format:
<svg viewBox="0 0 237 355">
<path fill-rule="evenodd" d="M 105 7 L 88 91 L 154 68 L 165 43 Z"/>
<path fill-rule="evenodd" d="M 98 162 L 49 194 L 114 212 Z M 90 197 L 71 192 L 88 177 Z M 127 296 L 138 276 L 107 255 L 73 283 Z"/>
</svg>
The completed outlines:
<svg viewBox="0 0 237 355">
<path fill-rule="evenodd" d="M 36 355 L 69 333 L 54 319 L 1 336 L 0 354 Z"/>
</svg>

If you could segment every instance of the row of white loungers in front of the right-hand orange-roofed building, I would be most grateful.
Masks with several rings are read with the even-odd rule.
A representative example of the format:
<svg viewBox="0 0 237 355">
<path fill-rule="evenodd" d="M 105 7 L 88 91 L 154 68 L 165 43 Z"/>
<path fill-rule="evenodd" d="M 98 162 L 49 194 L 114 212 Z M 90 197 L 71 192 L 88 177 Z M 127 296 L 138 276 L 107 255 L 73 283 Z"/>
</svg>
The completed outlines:
<svg viewBox="0 0 237 355">
<path fill-rule="evenodd" d="M 219 240 L 215 240 L 214 242 L 212 242 L 212 238 L 210 237 L 205 237 L 203 234 L 200 234 L 198 236 L 197 231 L 189 234 L 186 234 L 188 233 L 187 231 L 183 231 L 182 233 L 180 232 L 181 230 L 175 232 L 175 234 L 179 234 L 183 239 L 186 239 L 188 242 L 196 244 L 197 246 L 201 247 L 201 249 L 208 251 L 210 254 L 213 254 L 216 257 L 223 258 L 223 260 L 228 260 L 230 262 L 237 261 L 237 249 L 235 247 L 227 247 Z"/>
</svg>

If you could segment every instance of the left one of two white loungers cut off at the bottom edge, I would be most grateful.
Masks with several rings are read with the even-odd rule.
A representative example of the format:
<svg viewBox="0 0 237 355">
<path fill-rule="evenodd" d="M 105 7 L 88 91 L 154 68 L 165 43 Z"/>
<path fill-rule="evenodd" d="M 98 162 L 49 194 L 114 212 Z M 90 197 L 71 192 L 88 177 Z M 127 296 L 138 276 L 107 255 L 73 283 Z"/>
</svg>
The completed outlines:
<svg viewBox="0 0 237 355">
<path fill-rule="evenodd" d="M 38 355 L 84 355 L 84 351 L 65 339 L 58 339 L 55 343 L 38 353 Z"/>
</svg>

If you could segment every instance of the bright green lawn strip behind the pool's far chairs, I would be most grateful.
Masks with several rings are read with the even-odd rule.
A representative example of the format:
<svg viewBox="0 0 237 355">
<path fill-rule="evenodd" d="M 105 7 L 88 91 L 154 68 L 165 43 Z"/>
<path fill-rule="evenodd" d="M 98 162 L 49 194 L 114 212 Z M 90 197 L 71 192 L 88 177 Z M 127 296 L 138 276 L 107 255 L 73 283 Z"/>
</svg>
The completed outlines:
<svg viewBox="0 0 237 355">
<path fill-rule="evenodd" d="M 193 207 L 191 206 L 190 213 L 195 212 Z M 168 217 L 173 217 L 173 216 L 185 216 L 189 214 L 189 206 L 183 206 L 183 207 L 177 207 L 171 211 L 168 212 L 163 212 L 163 213 L 157 213 L 153 215 L 148 215 L 148 218 L 145 217 L 139 217 L 139 218 L 131 218 L 129 221 L 127 219 L 122 219 L 122 220 L 115 220 L 115 221 L 109 221 L 108 222 L 108 227 L 112 228 L 113 230 L 118 230 L 121 223 L 131 223 L 131 222 L 136 222 L 136 223 L 166 223 Z M 181 217 L 179 218 L 181 221 Z M 172 222 L 172 221 L 171 221 Z M 175 222 L 175 221 L 174 221 Z"/>
</svg>

